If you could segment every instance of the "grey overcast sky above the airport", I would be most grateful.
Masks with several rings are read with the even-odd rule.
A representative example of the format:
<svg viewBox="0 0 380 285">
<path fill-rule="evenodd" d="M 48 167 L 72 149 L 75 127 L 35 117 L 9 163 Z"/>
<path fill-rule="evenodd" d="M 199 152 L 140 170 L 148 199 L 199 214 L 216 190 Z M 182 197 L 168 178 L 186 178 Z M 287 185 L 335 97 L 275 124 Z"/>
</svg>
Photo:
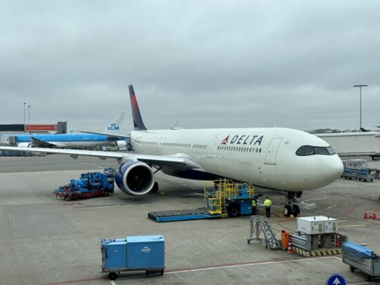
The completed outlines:
<svg viewBox="0 0 380 285">
<path fill-rule="evenodd" d="M 0 1 L 0 124 L 380 124 L 380 1 Z M 26 108 L 28 123 L 28 108 Z"/>
</svg>

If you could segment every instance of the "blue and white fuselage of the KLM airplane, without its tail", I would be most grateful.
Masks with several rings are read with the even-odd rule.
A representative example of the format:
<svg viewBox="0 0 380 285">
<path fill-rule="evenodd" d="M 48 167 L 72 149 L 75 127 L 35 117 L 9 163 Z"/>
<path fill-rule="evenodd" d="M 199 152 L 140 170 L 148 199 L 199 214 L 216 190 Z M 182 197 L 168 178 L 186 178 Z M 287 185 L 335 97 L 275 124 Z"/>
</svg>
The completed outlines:
<svg viewBox="0 0 380 285">
<path fill-rule="evenodd" d="M 113 141 L 122 140 L 122 137 L 110 137 L 96 134 L 56 134 L 56 135 L 14 135 L 17 146 L 33 145 L 32 138 L 54 144 L 57 148 L 91 148 L 102 146 Z M 31 146 L 32 146 L 31 145 Z"/>
</svg>

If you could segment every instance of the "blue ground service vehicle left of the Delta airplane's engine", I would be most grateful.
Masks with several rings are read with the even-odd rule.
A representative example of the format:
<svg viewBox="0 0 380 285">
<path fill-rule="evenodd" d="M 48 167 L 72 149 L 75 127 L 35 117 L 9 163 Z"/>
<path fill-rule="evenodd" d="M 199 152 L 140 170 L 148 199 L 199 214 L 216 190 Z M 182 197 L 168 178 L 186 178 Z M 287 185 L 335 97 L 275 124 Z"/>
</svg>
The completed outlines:
<svg viewBox="0 0 380 285">
<path fill-rule="evenodd" d="M 82 173 L 79 179 L 70 179 L 70 183 L 59 186 L 53 193 L 62 199 L 84 199 L 105 196 L 113 193 L 115 168 L 104 168 L 104 173 Z"/>
</svg>

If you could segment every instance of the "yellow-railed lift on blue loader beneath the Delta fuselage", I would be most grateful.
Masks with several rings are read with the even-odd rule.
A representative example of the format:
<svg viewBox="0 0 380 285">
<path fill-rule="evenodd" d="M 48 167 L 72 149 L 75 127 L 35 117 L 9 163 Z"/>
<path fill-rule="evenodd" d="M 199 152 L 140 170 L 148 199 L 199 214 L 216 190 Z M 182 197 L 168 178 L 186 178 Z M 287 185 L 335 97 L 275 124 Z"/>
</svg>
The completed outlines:
<svg viewBox="0 0 380 285">
<path fill-rule="evenodd" d="M 251 214 L 254 186 L 249 183 L 234 183 L 229 179 L 205 182 L 205 199 L 210 215 L 235 217 Z"/>
</svg>

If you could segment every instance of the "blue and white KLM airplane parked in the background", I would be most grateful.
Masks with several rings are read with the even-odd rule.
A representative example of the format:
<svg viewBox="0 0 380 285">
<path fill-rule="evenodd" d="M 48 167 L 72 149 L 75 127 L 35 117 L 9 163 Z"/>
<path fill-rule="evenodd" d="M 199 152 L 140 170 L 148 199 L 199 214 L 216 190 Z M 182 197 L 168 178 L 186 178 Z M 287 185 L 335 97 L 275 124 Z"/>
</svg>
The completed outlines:
<svg viewBox="0 0 380 285">
<path fill-rule="evenodd" d="M 53 135 L 6 135 L 3 137 L 15 137 L 16 145 L 26 148 L 95 148 L 112 143 L 120 148 L 127 144 L 126 136 L 118 135 L 123 117 L 124 112 L 117 114 L 102 134 L 82 132 Z"/>
</svg>

